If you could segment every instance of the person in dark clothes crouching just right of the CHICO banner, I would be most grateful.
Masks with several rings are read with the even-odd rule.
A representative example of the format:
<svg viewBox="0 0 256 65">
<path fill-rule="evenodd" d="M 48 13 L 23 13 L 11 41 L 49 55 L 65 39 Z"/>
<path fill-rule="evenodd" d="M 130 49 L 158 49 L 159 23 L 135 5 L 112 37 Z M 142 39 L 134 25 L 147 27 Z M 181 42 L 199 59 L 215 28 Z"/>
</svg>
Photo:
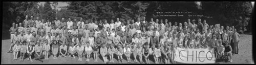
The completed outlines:
<svg viewBox="0 0 256 65">
<path fill-rule="evenodd" d="M 228 56 L 228 62 L 232 62 L 232 55 L 231 55 L 231 52 L 232 52 L 232 48 L 230 45 L 228 45 L 228 42 L 225 43 L 225 50 L 224 50 L 224 56 Z"/>
</svg>

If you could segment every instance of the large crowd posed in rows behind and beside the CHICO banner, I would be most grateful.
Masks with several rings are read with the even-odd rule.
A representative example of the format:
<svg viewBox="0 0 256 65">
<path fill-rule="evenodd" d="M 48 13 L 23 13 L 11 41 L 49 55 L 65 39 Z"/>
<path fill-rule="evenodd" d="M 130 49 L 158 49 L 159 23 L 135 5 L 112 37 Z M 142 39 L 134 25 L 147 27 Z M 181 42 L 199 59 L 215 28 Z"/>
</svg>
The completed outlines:
<svg viewBox="0 0 256 65">
<path fill-rule="evenodd" d="M 110 21 L 109 24 L 106 19 L 58 20 L 57 17 L 49 20 L 38 16 L 29 19 L 26 15 L 22 23 L 13 23 L 9 30 L 8 53 L 13 52 L 14 60 L 19 56 L 20 61 L 27 57 L 33 61 L 31 57 L 34 56 L 34 60 L 42 62 L 42 58 L 48 60 L 50 55 L 54 59 L 78 57 L 78 61 L 82 61 L 83 56 L 90 61 L 93 55 L 94 62 L 102 57 L 104 63 L 113 63 L 114 55 L 118 62 L 126 58 L 127 62 L 150 63 L 149 57 L 152 57 L 154 63 L 175 63 L 177 48 L 213 48 L 216 58 L 226 56 L 230 62 L 231 56 L 238 54 L 240 35 L 234 26 L 217 28 L 209 26 L 206 20 L 201 23 L 200 18 L 191 22 L 187 19 L 183 25 L 167 19 L 146 21 L 145 17 L 136 21 L 120 21 L 119 18 L 116 22 Z"/>
</svg>

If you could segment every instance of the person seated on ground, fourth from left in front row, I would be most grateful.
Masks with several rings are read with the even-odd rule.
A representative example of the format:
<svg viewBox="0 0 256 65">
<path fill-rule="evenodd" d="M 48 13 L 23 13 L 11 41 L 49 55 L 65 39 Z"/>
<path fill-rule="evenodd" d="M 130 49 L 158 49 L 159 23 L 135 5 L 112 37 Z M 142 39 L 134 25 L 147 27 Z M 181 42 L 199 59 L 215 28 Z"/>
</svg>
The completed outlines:
<svg viewBox="0 0 256 65">
<path fill-rule="evenodd" d="M 42 57 L 44 57 L 45 55 L 42 54 L 42 43 L 40 43 L 39 40 L 37 40 L 36 42 L 36 46 L 35 46 L 35 60 L 39 60 L 41 62 L 44 62 L 41 60 Z"/>
</svg>

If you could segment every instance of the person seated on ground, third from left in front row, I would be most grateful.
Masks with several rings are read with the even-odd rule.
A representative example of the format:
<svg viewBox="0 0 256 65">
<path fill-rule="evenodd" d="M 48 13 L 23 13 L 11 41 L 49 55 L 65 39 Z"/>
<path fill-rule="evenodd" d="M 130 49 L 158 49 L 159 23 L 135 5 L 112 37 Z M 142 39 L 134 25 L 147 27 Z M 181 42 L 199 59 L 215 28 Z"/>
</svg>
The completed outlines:
<svg viewBox="0 0 256 65">
<path fill-rule="evenodd" d="M 29 59 L 31 62 L 33 62 L 32 58 L 31 58 L 31 55 L 33 55 L 33 52 L 35 50 L 34 46 L 33 46 L 33 41 L 30 41 L 29 42 L 29 46 L 27 47 L 27 53 L 28 53 L 28 56 L 29 56 Z"/>
</svg>

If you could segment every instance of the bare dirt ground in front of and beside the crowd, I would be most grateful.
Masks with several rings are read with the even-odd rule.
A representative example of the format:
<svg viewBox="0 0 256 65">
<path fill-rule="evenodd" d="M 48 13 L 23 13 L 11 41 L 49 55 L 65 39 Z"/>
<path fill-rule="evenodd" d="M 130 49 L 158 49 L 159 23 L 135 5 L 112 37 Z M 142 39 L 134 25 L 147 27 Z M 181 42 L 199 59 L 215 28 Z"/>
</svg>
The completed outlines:
<svg viewBox="0 0 256 65">
<path fill-rule="evenodd" d="M 10 39 L 2 40 L 2 56 L 1 56 L 1 64 L 84 64 L 84 63 L 103 63 L 101 57 L 98 58 L 98 62 L 94 62 L 93 57 L 90 58 L 90 62 L 86 62 L 86 58 L 82 57 L 83 61 L 78 61 L 78 58 L 58 58 L 53 59 L 53 56 L 49 57 L 49 60 L 44 60 L 44 62 L 40 62 L 37 60 L 27 61 L 26 58 L 24 61 L 13 60 L 13 53 L 6 53 L 10 47 Z M 123 55 L 123 57 L 125 57 Z M 20 59 L 20 57 L 18 57 Z M 117 57 L 114 57 L 114 63 L 118 63 L 116 60 Z M 131 58 L 133 60 L 133 58 Z M 152 61 L 153 58 L 150 58 L 150 63 L 154 63 Z M 252 60 L 252 35 L 241 34 L 241 41 L 239 42 L 239 55 L 232 56 L 233 62 L 232 63 L 247 63 L 253 64 Z M 127 63 L 126 58 L 124 58 L 123 63 Z M 134 63 L 133 61 L 130 63 Z M 143 62 L 145 63 L 145 62 Z M 229 62 L 218 62 L 218 63 L 229 63 Z"/>
</svg>

